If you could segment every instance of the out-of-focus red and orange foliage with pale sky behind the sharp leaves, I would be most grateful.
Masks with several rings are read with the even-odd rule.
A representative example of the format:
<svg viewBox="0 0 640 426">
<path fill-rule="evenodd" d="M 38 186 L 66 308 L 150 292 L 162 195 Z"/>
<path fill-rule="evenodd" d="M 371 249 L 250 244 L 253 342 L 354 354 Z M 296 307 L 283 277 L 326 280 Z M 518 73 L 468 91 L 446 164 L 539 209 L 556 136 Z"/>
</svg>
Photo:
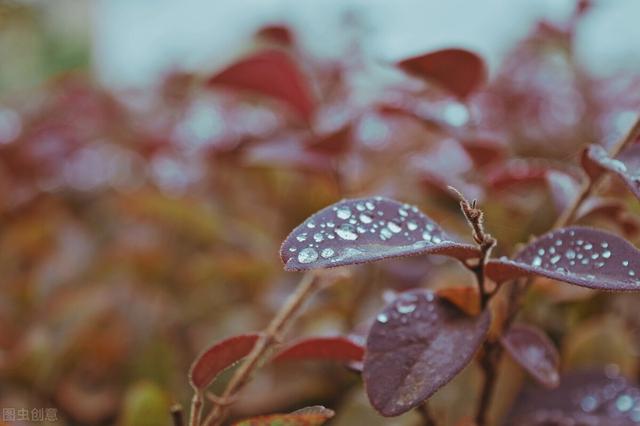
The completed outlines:
<svg viewBox="0 0 640 426">
<path fill-rule="evenodd" d="M 636 0 L 0 0 L 0 408 L 169 424 L 196 354 L 261 329 L 300 278 L 284 237 L 344 197 L 414 203 L 464 239 L 454 185 L 511 253 L 571 200 L 581 148 L 610 146 L 640 109 L 638 16 Z M 395 66 L 449 47 L 486 63 L 469 96 Z M 265 50 L 286 54 L 304 102 L 218 84 Z M 615 181 L 598 194 L 580 222 L 637 244 L 637 200 Z M 292 336 L 349 333 L 385 290 L 472 284 L 440 258 L 349 272 Z M 564 371 L 636 379 L 638 302 L 543 282 L 522 316 Z M 527 380 L 504 364 L 495 419 Z M 470 366 L 436 395 L 443 424 L 471 413 L 477 384 Z M 316 403 L 335 425 L 416 422 L 379 417 L 355 374 L 315 364 L 265 369 L 234 416 Z"/>
</svg>

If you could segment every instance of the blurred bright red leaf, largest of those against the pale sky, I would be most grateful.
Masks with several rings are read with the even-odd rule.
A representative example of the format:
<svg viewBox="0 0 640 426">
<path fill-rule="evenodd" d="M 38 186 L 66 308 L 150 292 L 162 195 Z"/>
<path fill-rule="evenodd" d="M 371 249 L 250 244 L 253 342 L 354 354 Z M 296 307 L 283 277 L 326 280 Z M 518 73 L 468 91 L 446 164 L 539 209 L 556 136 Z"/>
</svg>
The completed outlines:
<svg viewBox="0 0 640 426">
<path fill-rule="evenodd" d="M 310 121 L 315 110 L 306 77 L 289 55 L 280 50 L 266 50 L 241 59 L 211 77 L 208 85 L 270 96 L 287 103 L 306 121 Z"/>
</svg>

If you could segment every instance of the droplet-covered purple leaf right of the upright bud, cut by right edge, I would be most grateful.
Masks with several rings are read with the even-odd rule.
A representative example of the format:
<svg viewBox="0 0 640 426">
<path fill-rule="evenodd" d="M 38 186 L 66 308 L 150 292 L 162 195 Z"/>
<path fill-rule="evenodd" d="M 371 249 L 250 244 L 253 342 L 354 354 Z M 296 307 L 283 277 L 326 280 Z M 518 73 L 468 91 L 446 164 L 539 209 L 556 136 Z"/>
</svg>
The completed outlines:
<svg viewBox="0 0 640 426">
<path fill-rule="evenodd" d="M 640 290 L 640 251 L 598 229 L 573 226 L 549 232 L 513 260 L 491 260 L 486 273 L 496 282 L 541 275 L 598 290 Z"/>
</svg>

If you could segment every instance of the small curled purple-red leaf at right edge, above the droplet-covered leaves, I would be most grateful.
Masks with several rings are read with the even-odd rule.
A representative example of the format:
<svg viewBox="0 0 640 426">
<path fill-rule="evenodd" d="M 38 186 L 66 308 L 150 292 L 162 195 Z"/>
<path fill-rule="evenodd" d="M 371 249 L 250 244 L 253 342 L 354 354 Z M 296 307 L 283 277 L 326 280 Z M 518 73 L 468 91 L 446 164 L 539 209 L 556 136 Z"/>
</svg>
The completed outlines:
<svg viewBox="0 0 640 426">
<path fill-rule="evenodd" d="M 602 146 L 591 145 L 582 154 L 582 167 L 592 180 L 605 172 L 613 173 L 640 199 L 639 145 L 622 152 L 617 159 L 609 157 Z"/>
</svg>

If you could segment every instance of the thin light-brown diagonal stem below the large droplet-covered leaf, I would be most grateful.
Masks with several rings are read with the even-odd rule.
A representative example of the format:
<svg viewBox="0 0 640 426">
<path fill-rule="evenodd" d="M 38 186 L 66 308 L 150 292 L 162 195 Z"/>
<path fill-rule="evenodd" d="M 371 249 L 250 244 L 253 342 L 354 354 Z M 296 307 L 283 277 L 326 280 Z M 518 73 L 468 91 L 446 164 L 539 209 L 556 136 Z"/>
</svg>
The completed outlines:
<svg viewBox="0 0 640 426">
<path fill-rule="evenodd" d="M 295 292 L 289 296 L 280 311 L 271 320 L 265 331 L 261 334 L 247 359 L 236 370 L 229 381 L 227 388 L 220 397 L 221 401 L 232 401 L 236 394 L 248 382 L 251 374 L 256 370 L 264 356 L 279 343 L 280 336 L 296 315 L 300 307 L 313 294 L 318 282 L 315 273 L 308 272 L 300 280 Z M 214 404 L 211 412 L 204 420 L 204 426 L 217 426 L 222 424 L 229 414 L 228 404 Z"/>
</svg>

